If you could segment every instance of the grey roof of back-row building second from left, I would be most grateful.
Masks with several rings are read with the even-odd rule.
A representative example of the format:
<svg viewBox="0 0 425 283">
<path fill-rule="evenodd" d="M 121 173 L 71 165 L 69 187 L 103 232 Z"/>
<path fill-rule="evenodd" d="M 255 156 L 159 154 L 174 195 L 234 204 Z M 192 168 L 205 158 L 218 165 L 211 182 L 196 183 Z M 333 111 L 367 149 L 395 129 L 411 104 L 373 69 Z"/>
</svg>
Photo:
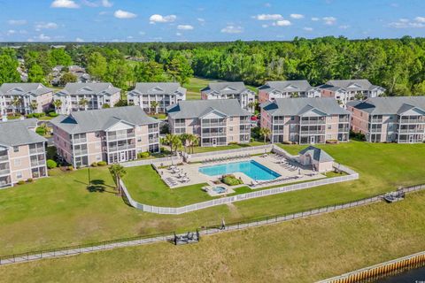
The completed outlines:
<svg viewBox="0 0 425 283">
<path fill-rule="evenodd" d="M 73 95 L 105 95 L 112 96 L 119 92 L 120 88 L 115 88 L 110 82 L 68 82 L 62 90 L 55 96 L 73 96 Z"/>
</svg>

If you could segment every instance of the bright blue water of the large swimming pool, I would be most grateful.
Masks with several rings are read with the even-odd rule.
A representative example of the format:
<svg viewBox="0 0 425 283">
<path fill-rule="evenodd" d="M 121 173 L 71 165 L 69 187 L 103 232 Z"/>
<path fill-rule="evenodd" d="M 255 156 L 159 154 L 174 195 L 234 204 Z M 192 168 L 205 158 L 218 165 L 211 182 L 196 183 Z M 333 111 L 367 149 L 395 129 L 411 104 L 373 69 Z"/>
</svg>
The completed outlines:
<svg viewBox="0 0 425 283">
<path fill-rule="evenodd" d="M 266 166 L 259 164 L 254 160 L 204 166 L 199 168 L 199 172 L 208 176 L 218 176 L 241 172 L 253 180 L 274 180 L 281 176 L 280 174 L 268 169 Z"/>
</svg>

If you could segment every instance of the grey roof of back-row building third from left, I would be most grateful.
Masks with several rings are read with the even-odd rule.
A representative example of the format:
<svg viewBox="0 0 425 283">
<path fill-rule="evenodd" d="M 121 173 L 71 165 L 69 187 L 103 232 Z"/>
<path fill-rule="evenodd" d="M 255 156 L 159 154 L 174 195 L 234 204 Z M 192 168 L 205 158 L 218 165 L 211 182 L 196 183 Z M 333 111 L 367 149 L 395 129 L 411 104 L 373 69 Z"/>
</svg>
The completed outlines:
<svg viewBox="0 0 425 283">
<path fill-rule="evenodd" d="M 135 89 L 128 92 L 128 96 L 134 95 L 186 95 L 186 88 L 182 88 L 178 82 L 137 82 Z"/>
</svg>

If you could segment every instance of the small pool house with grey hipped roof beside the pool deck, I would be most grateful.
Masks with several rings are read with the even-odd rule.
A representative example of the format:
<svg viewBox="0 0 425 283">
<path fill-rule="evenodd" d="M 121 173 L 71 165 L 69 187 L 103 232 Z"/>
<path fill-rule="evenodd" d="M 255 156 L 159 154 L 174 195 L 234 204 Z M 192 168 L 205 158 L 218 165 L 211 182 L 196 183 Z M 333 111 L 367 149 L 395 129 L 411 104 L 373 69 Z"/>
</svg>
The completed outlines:
<svg viewBox="0 0 425 283">
<path fill-rule="evenodd" d="M 299 162 L 305 166 L 313 165 L 317 172 L 332 171 L 334 160 L 325 150 L 313 146 L 299 151 Z"/>
</svg>

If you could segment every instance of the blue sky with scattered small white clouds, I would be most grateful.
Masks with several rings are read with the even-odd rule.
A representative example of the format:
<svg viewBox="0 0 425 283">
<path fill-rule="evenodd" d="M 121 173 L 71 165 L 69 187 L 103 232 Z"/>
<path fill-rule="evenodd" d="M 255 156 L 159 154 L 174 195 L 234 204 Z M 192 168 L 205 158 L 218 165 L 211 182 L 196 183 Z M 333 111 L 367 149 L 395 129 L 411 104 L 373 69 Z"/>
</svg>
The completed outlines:
<svg viewBox="0 0 425 283">
<path fill-rule="evenodd" d="M 425 0 L 0 0 L 0 41 L 425 36 Z"/>
</svg>

